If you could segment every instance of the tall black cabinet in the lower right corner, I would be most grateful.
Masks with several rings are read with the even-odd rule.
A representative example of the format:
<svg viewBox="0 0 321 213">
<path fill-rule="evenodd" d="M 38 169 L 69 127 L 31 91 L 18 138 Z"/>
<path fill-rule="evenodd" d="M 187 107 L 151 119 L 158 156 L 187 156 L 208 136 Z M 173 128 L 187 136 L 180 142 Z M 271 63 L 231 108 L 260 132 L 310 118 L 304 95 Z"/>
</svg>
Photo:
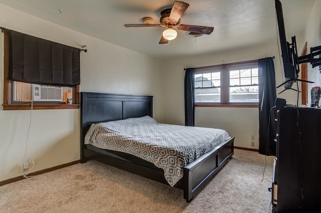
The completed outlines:
<svg viewBox="0 0 321 213">
<path fill-rule="evenodd" d="M 278 110 L 276 142 L 273 211 L 320 212 L 321 109 Z"/>
</svg>

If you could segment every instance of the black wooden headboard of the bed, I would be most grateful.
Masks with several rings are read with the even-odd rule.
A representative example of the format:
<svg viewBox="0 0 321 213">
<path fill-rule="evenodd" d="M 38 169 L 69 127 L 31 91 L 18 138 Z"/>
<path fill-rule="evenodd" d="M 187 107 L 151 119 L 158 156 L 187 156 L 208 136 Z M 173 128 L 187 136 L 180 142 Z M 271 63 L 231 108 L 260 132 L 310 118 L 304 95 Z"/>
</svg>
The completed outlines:
<svg viewBox="0 0 321 213">
<path fill-rule="evenodd" d="M 149 115 L 152 96 L 80 92 L 81 151 L 85 135 L 92 123 Z"/>
</svg>

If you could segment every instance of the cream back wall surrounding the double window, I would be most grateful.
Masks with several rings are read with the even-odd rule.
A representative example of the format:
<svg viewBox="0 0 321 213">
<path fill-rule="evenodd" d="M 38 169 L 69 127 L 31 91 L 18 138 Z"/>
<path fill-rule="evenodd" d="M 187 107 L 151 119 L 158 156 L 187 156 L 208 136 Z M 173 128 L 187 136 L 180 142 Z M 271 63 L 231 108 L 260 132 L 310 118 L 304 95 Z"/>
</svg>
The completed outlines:
<svg viewBox="0 0 321 213">
<path fill-rule="evenodd" d="M 164 121 L 185 124 L 184 111 L 184 68 L 231 63 L 275 56 L 276 85 L 282 83 L 277 42 L 262 44 L 233 51 L 194 57 L 175 58 L 164 65 Z M 282 88 L 277 89 L 277 93 Z M 296 103 L 296 92 L 285 91 L 278 97 Z M 196 107 L 195 125 L 223 128 L 235 137 L 235 145 L 258 148 L 258 108 Z M 251 147 L 251 135 L 255 135 L 255 147 Z"/>
</svg>

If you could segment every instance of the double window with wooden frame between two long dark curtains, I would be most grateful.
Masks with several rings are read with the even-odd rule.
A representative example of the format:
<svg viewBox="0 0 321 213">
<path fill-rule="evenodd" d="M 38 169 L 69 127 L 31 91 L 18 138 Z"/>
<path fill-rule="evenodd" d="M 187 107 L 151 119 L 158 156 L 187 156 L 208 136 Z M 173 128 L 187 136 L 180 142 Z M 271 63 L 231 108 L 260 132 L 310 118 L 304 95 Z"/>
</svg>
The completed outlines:
<svg viewBox="0 0 321 213">
<path fill-rule="evenodd" d="M 195 68 L 196 106 L 258 106 L 257 60 Z"/>
</svg>

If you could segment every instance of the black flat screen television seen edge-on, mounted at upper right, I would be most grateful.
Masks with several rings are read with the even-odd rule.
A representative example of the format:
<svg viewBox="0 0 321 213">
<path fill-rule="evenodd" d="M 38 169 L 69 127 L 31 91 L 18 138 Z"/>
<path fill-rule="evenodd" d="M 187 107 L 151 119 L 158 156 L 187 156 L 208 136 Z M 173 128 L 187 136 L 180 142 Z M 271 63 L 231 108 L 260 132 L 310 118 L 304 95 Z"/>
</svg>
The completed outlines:
<svg viewBox="0 0 321 213">
<path fill-rule="evenodd" d="M 281 48 L 282 57 L 281 70 L 284 77 L 281 85 L 284 85 L 285 89 L 289 89 L 292 87 L 292 84 L 297 79 L 299 73 L 295 36 L 292 37 L 291 44 L 286 40 L 282 4 L 279 0 L 275 0 L 275 10 L 278 26 L 279 46 Z M 280 87 L 281 85 L 277 87 Z"/>
</svg>

